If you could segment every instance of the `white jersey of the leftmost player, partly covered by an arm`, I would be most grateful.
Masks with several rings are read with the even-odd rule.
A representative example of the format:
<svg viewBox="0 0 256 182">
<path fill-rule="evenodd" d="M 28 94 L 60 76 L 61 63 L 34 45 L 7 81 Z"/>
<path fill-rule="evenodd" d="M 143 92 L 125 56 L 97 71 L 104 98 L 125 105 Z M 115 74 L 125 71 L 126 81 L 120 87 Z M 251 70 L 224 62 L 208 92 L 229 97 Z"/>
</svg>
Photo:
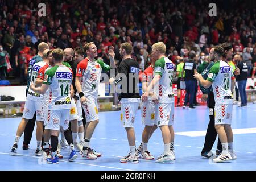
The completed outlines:
<svg viewBox="0 0 256 182">
<path fill-rule="evenodd" d="M 31 79 L 30 79 L 30 84 L 33 83 L 35 85 L 36 82 L 36 78 L 38 77 L 38 72 L 39 69 L 42 68 L 44 65 L 46 65 L 47 63 L 44 61 L 39 61 L 38 63 L 35 63 L 32 67 L 32 71 L 31 71 Z M 30 88 L 28 88 L 28 92 L 27 92 L 27 99 L 28 100 L 33 100 L 33 101 L 37 101 L 38 99 L 40 99 L 40 94 L 35 93 L 33 90 L 31 90 Z"/>
</svg>

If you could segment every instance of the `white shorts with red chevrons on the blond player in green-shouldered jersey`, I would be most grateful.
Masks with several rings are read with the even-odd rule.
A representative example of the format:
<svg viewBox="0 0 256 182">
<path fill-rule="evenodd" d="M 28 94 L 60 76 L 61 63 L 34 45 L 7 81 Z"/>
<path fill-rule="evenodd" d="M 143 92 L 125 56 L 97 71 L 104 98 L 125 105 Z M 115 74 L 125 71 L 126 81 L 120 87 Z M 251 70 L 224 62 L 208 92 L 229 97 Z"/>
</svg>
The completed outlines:
<svg viewBox="0 0 256 182">
<path fill-rule="evenodd" d="M 174 125 L 174 102 L 159 103 L 155 110 L 156 125 Z"/>
</svg>

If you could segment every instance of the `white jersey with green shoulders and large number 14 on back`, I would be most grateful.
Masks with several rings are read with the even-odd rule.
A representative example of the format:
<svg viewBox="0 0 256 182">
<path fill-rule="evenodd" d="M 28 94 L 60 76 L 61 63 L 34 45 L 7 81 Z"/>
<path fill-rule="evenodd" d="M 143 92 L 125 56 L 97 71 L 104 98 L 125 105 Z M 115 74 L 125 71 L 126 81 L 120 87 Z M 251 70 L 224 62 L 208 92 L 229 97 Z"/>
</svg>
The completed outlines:
<svg viewBox="0 0 256 182">
<path fill-rule="evenodd" d="M 71 109 L 70 87 L 72 70 L 65 65 L 55 65 L 44 75 L 43 84 L 50 85 L 52 92 L 49 110 Z"/>
</svg>

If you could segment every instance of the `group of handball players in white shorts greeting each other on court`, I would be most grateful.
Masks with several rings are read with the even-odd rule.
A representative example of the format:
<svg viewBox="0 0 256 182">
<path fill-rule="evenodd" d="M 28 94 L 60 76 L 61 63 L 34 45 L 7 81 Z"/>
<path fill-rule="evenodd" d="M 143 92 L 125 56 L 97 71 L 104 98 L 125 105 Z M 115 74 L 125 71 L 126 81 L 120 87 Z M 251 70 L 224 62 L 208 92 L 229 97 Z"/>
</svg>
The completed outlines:
<svg viewBox="0 0 256 182">
<path fill-rule="evenodd" d="M 11 154 L 16 154 L 19 138 L 24 132 L 26 123 L 36 114 L 35 155 L 43 155 L 47 163 L 59 164 L 59 158 L 63 156 L 60 154 L 58 144 L 64 143 L 65 146 L 67 142 L 70 150 L 69 161 L 77 158 L 76 152 L 86 159 L 97 159 L 101 153 L 90 146 L 90 139 L 100 119 L 97 105 L 98 85 L 102 70 L 109 72 L 110 69 L 115 69 L 114 47 L 108 50 L 110 65 L 96 59 L 97 47 L 93 42 L 85 44 L 84 49 L 77 48 L 75 51 L 71 48 L 66 48 L 64 51 L 49 50 L 46 43 L 40 43 L 38 48 L 39 53 L 31 59 L 28 68 L 30 84 L 27 89 L 27 100 Z M 123 89 L 120 94 L 120 118 L 127 132 L 130 152 L 120 159 L 120 162 L 138 163 L 139 157 L 147 160 L 154 159 L 148 151 L 147 144 L 151 135 L 159 127 L 163 137 L 164 151 L 158 156 L 156 163 L 170 163 L 175 160 L 174 92 L 172 90 L 175 64 L 166 57 L 166 46 L 163 42 L 153 44 L 151 65 L 141 75 L 143 94 L 140 96 L 134 83 L 134 78 L 139 77 L 139 64 L 131 58 L 132 52 L 133 47 L 130 43 L 121 44 L 119 53 L 122 61 L 118 67 L 118 74 L 115 78 L 109 79 L 110 84 L 119 84 Z M 84 53 L 87 56 L 85 59 Z M 72 60 L 73 55 L 76 63 Z M 222 60 L 222 55 L 224 55 L 224 49 L 221 46 L 213 47 L 210 58 L 214 64 L 207 73 L 207 79 L 197 72 L 194 75 L 201 86 L 213 88 L 216 102 L 215 129 L 222 145 L 222 153 L 213 159 L 214 162 L 236 159 L 231 129 L 234 76 L 228 63 Z M 125 84 L 121 75 L 127 78 Z M 134 122 L 139 107 L 144 130 L 142 142 L 136 148 Z M 82 109 L 86 117 L 85 126 L 82 123 Z M 59 134 L 61 142 L 58 139 Z"/>
</svg>

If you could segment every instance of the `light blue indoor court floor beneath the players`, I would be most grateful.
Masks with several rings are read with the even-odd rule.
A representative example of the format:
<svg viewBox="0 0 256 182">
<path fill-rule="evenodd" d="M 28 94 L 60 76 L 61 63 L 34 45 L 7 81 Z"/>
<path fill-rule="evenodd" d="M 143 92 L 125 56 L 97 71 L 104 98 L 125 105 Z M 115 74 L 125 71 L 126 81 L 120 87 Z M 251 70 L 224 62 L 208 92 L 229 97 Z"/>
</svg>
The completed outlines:
<svg viewBox="0 0 256 182">
<path fill-rule="evenodd" d="M 209 111 L 206 106 L 197 106 L 194 110 L 175 108 L 175 154 L 176 160 L 168 164 L 156 164 L 154 160 L 140 159 L 138 164 L 119 162 L 122 156 L 129 153 L 125 129 L 119 121 L 119 111 L 100 113 L 100 123 L 94 131 L 91 147 L 101 152 L 97 160 L 86 160 L 79 157 L 75 162 L 68 162 L 68 149 L 61 151 L 64 159 L 59 165 L 47 164 L 42 158 L 35 156 L 35 130 L 30 143 L 30 150 L 22 150 L 23 136 L 20 138 L 18 155 L 11 156 L 10 150 L 14 142 L 20 118 L 0 119 L 0 170 L 256 170 L 256 104 L 246 108 L 233 106 L 234 150 L 237 160 L 228 163 L 212 163 L 211 159 L 200 156 L 204 144 L 205 130 L 209 122 Z M 135 118 L 137 146 L 141 143 L 143 125 L 141 111 Z M 157 158 L 164 146 L 160 130 L 157 129 L 148 143 L 148 150 Z M 213 146 L 215 152 L 216 144 Z"/>
</svg>

